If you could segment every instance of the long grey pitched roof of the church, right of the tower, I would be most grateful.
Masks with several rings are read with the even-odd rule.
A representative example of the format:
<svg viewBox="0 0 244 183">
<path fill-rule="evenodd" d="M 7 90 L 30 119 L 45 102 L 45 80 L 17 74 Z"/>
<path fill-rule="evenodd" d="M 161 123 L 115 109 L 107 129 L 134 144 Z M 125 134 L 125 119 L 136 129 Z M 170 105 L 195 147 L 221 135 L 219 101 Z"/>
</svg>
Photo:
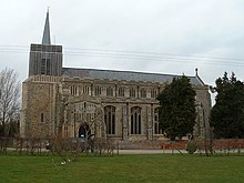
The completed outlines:
<svg viewBox="0 0 244 183">
<path fill-rule="evenodd" d="M 77 69 L 62 68 L 62 75 L 91 78 L 91 79 L 108 79 L 108 80 L 126 80 L 126 81 L 149 81 L 149 82 L 171 82 L 173 78 L 180 75 L 133 72 L 133 71 L 114 71 L 114 70 L 95 70 L 95 69 Z M 199 77 L 187 77 L 192 84 L 204 85 Z"/>
</svg>

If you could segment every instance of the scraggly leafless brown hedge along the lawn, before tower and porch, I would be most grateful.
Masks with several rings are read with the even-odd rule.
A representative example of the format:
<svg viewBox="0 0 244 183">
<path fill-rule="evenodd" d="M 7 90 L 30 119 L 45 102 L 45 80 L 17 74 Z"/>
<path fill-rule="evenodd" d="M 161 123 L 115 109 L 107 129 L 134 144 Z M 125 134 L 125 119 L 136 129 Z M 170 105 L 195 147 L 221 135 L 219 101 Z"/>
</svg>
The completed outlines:
<svg viewBox="0 0 244 183">
<path fill-rule="evenodd" d="M 68 153 L 79 154 L 94 153 L 94 154 L 113 154 L 118 149 L 116 143 L 104 139 L 91 139 L 84 141 L 79 138 L 63 139 L 41 139 L 41 138 L 0 138 L 0 152 L 7 153 L 8 150 L 16 152 L 41 155 L 43 153 L 52 153 L 63 155 Z"/>
</svg>

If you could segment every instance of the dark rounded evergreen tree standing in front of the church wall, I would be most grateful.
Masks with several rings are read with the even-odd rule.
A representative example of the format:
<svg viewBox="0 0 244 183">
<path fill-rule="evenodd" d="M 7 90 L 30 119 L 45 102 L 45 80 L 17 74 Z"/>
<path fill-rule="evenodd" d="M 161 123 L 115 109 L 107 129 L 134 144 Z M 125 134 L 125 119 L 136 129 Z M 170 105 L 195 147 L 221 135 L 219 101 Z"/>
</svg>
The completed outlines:
<svg viewBox="0 0 244 183">
<path fill-rule="evenodd" d="M 160 101 L 160 124 L 166 138 L 182 139 L 193 132 L 195 125 L 195 91 L 186 77 L 174 78 L 162 93 Z"/>
</svg>

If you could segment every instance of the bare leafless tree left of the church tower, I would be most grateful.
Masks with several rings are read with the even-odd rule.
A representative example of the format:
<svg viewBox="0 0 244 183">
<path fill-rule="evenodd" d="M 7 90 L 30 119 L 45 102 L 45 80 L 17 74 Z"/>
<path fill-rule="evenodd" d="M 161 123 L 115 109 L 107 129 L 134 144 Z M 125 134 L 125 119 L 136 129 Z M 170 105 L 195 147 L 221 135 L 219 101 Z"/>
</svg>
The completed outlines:
<svg viewBox="0 0 244 183">
<path fill-rule="evenodd" d="M 19 116 L 20 82 L 13 69 L 3 69 L 0 72 L 0 125 L 2 135 L 8 135 L 7 125 Z"/>
</svg>

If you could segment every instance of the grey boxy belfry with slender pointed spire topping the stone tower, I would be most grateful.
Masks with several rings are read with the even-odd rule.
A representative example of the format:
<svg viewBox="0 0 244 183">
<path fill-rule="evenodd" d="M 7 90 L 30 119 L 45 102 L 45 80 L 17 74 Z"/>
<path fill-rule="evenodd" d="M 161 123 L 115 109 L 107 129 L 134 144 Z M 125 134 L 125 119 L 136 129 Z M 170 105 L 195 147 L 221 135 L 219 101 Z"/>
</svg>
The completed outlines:
<svg viewBox="0 0 244 183">
<path fill-rule="evenodd" d="M 62 45 L 51 44 L 49 11 L 47 12 L 44 31 L 41 44 L 31 44 L 29 58 L 30 75 L 62 74 Z"/>
</svg>

